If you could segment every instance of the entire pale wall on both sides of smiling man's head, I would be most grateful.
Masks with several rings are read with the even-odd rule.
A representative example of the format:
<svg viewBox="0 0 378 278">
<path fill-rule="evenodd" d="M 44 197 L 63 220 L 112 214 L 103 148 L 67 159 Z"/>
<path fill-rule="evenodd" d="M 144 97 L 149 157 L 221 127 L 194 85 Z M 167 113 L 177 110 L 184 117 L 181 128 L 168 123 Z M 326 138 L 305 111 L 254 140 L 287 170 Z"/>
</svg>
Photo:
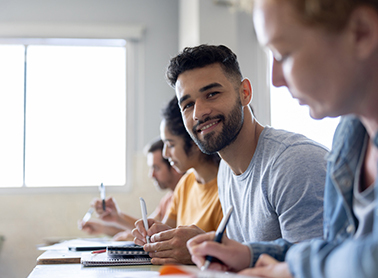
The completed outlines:
<svg viewBox="0 0 378 278">
<path fill-rule="evenodd" d="M 134 111 L 129 115 L 135 127 L 131 140 L 132 187 L 129 192 L 107 192 L 118 200 L 122 210 L 136 217 L 140 216 L 139 196 L 145 197 L 152 210 L 163 194 L 152 188 L 147 178 L 142 149 L 159 134 L 158 115 L 174 95 L 164 73 L 179 45 L 181 48 L 194 40 L 231 47 L 239 57 L 243 74 L 253 82 L 257 117 L 262 123 L 269 123 L 269 108 L 260 107 L 268 99 L 263 93 L 266 92 L 265 58 L 257 46 L 250 15 L 214 6 L 212 0 L 200 0 L 196 4 L 186 1 L 194 0 L 0 0 L 0 26 L 15 23 L 145 26 L 144 36 L 137 43 L 136 93 L 131 98 Z M 180 7 L 186 8 L 180 10 Z M 190 17 L 185 20 L 195 26 L 194 31 L 188 26 L 179 28 L 184 24 L 179 14 L 187 13 L 196 15 L 192 21 Z M 97 188 L 71 193 L 7 193 L 0 189 L 0 235 L 5 236 L 0 250 L 0 277 L 26 277 L 41 253 L 36 245 L 43 243 L 44 238 L 85 236 L 77 230 L 76 221 L 97 196 Z"/>
</svg>

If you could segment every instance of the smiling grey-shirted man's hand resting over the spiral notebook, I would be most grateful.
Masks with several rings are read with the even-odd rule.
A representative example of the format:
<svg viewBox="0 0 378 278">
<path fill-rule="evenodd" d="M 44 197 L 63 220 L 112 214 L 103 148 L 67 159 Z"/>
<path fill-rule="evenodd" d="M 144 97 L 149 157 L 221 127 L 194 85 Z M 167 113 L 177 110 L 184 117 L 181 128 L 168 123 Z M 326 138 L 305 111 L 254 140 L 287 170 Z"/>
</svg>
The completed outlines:
<svg viewBox="0 0 378 278">
<path fill-rule="evenodd" d="M 144 250 L 150 252 L 152 264 L 193 264 L 186 242 L 204 233 L 195 225 L 179 226 L 155 233 L 151 237 L 151 243 L 144 245 Z"/>
</svg>

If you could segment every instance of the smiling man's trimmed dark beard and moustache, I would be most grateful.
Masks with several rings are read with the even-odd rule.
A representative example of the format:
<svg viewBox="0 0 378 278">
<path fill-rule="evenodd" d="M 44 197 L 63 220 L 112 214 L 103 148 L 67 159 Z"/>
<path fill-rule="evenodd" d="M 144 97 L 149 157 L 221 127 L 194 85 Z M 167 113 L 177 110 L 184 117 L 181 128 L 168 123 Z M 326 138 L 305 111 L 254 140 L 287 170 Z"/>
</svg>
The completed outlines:
<svg viewBox="0 0 378 278">
<path fill-rule="evenodd" d="M 232 111 L 228 114 L 227 118 L 228 120 L 226 121 L 223 115 L 217 115 L 212 118 L 208 117 L 204 121 L 199 121 L 193 127 L 192 132 L 190 132 L 190 136 L 203 153 L 209 155 L 214 154 L 236 140 L 244 122 L 244 113 L 240 99 L 237 101 Z M 206 134 L 203 140 L 200 140 L 197 132 L 198 126 L 212 119 L 220 119 L 219 122 L 224 123 L 221 133 L 218 137 L 215 137 L 215 132 L 212 131 Z"/>
</svg>

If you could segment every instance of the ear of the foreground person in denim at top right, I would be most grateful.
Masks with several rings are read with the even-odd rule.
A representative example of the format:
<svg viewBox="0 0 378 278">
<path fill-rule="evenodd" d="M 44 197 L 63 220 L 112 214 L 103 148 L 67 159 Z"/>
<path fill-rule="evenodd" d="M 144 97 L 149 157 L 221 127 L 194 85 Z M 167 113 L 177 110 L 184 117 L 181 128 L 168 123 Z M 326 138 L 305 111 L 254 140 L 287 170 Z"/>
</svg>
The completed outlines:
<svg viewBox="0 0 378 278">
<path fill-rule="evenodd" d="M 356 8 L 349 19 L 356 55 L 369 59 L 378 50 L 378 12 L 368 6 Z"/>
</svg>

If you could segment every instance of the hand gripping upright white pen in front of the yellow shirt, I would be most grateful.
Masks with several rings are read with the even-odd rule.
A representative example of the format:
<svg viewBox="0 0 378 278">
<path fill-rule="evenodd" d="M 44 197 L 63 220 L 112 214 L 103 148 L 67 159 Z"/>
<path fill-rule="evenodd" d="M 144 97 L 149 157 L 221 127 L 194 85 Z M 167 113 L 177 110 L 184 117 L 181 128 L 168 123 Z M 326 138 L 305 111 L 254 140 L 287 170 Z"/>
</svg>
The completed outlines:
<svg viewBox="0 0 378 278">
<path fill-rule="evenodd" d="M 155 233 L 159 233 L 161 231 L 166 231 L 172 229 L 172 227 L 163 224 L 153 218 L 148 218 L 148 231 L 144 228 L 143 219 L 139 219 L 135 222 L 135 229 L 132 230 L 132 235 L 134 238 L 134 243 L 137 245 L 145 245 L 147 243 L 146 236 L 152 236 Z"/>
</svg>

